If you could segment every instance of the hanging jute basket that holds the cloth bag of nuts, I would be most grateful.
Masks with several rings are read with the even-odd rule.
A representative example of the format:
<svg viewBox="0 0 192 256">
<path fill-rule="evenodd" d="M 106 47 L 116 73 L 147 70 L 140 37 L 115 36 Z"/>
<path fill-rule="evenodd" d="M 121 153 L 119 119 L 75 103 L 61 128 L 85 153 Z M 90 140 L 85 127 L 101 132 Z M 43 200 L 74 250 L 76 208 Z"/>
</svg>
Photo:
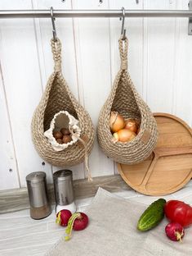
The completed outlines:
<svg viewBox="0 0 192 256">
<path fill-rule="evenodd" d="M 56 167 L 74 166 L 84 159 L 92 150 L 94 128 L 87 111 L 78 103 L 61 73 L 61 43 L 51 39 L 51 49 L 55 62 L 54 72 L 47 81 L 42 99 L 33 113 L 32 139 L 38 154 Z M 77 142 L 67 149 L 56 151 L 44 135 L 50 129 L 51 121 L 58 112 L 69 112 L 76 120 L 81 130 Z M 87 161 L 86 161 L 87 167 Z M 87 167 L 88 168 L 88 167 Z"/>
</svg>

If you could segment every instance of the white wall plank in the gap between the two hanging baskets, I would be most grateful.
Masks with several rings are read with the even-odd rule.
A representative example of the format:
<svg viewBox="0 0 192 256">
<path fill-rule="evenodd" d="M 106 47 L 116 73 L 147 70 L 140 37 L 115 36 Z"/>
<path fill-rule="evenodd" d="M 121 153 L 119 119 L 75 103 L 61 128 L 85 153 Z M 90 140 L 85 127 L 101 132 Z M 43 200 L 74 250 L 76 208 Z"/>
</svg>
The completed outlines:
<svg viewBox="0 0 192 256">
<path fill-rule="evenodd" d="M 74 9 L 108 9 L 107 1 L 101 4 L 97 0 L 72 2 Z M 74 37 L 80 101 L 90 113 L 96 127 L 100 108 L 105 103 L 111 86 L 109 20 L 75 19 Z M 113 161 L 100 151 L 97 139 L 89 162 L 92 176 L 114 173 Z"/>
</svg>

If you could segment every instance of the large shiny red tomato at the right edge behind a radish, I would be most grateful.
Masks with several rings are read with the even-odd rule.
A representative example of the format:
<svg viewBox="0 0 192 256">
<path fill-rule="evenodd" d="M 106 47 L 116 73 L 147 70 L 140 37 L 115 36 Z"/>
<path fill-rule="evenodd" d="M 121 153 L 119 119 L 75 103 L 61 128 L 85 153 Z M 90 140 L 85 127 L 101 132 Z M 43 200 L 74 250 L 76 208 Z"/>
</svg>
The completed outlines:
<svg viewBox="0 0 192 256">
<path fill-rule="evenodd" d="M 164 206 L 164 213 L 171 222 L 178 222 L 183 227 L 192 224 L 192 207 L 182 201 L 167 201 Z"/>
</svg>

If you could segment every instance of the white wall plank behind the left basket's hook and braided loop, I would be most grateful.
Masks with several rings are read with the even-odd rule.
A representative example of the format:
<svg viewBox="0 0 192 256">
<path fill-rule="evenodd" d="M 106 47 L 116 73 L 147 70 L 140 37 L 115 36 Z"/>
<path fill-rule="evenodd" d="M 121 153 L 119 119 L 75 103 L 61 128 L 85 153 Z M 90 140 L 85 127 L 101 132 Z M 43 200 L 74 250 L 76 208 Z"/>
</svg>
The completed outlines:
<svg viewBox="0 0 192 256">
<path fill-rule="evenodd" d="M 71 9 L 71 1 L 54 1 L 33 0 L 34 9 Z M 54 10 L 53 10 L 54 13 Z M 35 31 L 37 35 L 38 57 L 40 62 L 40 72 L 42 76 L 42 86 L 45 89 L 49 75 L 53 72 L 53 60 L 51 53 L 51 38 L 52 26 L 50 19 L 35 19 Z M 74 29 L 72 19 L 56 19 L 56 34 L 62 43 L 62 69 L 65 80 L 74 96 L 78 99 L 78 79 L 77 68 L 75 62 L 75 48 L 74 48 Z M 69 168 L 73 171 L 74 180 L 84 178 L 84 165 L 79 164 Z M 53 167 L 53 171 L 60 168 Z"/>
</svg>

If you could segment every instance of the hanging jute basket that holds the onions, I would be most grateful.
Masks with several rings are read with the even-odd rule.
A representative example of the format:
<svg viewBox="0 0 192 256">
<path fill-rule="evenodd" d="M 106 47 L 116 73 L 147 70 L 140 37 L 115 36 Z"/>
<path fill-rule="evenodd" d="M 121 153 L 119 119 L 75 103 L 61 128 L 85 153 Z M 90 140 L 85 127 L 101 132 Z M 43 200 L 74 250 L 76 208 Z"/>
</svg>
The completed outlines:
<svg viewBox="0 0 192 256">
<path fill-rule="evenodd" d="M 115 77 L 114 85 L 100 111 L 97 127 L 101 149 L 115 162 L 134 164 L 150 156 L 157 142 L 157 124 L 147 104 L 137 93 L 127 71 L 127 38 L 118 40 L 121 67 Z M 141 121 L 140 132 L 129 142 L 115 142 L 109 127 L 110 113 L 118 112 L 125 119 Z"/>
</svg>

